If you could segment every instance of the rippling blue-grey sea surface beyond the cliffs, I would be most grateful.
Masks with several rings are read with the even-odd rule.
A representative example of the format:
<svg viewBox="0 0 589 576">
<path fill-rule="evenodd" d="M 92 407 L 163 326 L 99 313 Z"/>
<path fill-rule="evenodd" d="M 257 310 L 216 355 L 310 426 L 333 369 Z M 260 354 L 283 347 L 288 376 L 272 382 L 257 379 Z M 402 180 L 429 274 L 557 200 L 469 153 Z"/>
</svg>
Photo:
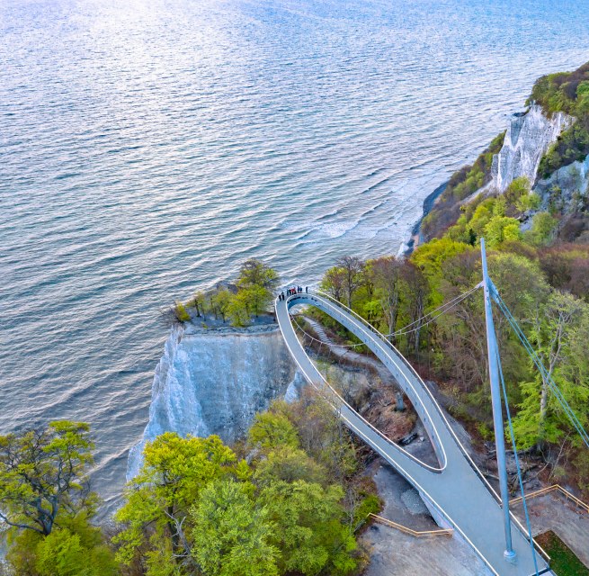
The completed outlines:
<svg viewBox="0 0 589 576">
<path fill-rule="evenodd" d="M 92 423 L 116 504 L 158 310 L 262 257 L 317 279 L 397 253 L 424 197 L 541 74 L 589 59 L 589 1 L 3 0 L 0 432 Z"/>
</svg>

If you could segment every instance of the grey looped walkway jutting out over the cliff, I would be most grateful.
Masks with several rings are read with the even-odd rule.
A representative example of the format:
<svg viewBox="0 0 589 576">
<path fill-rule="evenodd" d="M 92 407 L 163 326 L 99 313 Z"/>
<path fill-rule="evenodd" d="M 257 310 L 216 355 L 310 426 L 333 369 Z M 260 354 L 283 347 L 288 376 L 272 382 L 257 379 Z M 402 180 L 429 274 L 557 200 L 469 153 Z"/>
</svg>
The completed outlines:
<svg viewBox="0 0 589 576">
<path fill-rule="evenodd" d="M 353 332 L 393 374 L 422 419 L 439 465 L 424 464 L 397 446 L 346 404 L 326 382 L 308 358 L 290 322 L 290 308 L 305 304 L 326 312 Z M 496 576 L 535 574 L 530 543 L 513 515 L 513 549 L 517 558 L 513 564 L 504 559 L 504 517 L 496 492 L 460 444 L 432 393 L 397 349 L 355 312 L 326 294 L 287 296 L 284 301 L 277 299 L 275 308 L 282 336 L 308 383 L 326 397 L 348 428 L 415 486 L 438 523 L 454 528 Z M 543 573 L 547 563 L 540 554 L 536 557 Z"/>
</svg>

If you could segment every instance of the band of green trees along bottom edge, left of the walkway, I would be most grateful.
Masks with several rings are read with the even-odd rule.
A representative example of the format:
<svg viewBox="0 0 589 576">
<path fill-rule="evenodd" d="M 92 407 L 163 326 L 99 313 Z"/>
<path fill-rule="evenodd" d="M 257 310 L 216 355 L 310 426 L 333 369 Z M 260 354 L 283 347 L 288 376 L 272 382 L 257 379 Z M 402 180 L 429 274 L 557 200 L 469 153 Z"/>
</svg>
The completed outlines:
<svg viewBox="0 0 589 576">
<path fill-rule="evenodd" d="M 380 501 L 350 434 L 320 398 L 276 401 L 233 447 L 217 436 L 157 437 L 129 482 L 119 524 L 103 531 L 89 523 L 95 495 L 81 490 L 92 462 L 87 431 L 54 423 L 0 438 L 6 574 L 337 576 L 366 560 L 356 533 Z M 40 437 L 47 442 L 37 449 Z M 64 483 L 58 471 L 68 463 L 74 473 Z"/>
</svg>

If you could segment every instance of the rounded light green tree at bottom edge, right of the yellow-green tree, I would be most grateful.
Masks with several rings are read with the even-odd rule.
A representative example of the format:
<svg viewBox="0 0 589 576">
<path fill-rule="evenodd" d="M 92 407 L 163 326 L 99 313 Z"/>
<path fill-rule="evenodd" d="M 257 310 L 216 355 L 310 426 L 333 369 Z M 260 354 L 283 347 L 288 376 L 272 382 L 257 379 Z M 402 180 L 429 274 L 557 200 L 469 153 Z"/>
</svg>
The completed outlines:
<svg viewBox="0 0 589 576">
<path fill-rule="evenodd" d="M 253 486 L 210 482 L 191 510 L 192 554 L 203 576 L 278 576 L 275 527 L 252 498 Z"/>
</svg>

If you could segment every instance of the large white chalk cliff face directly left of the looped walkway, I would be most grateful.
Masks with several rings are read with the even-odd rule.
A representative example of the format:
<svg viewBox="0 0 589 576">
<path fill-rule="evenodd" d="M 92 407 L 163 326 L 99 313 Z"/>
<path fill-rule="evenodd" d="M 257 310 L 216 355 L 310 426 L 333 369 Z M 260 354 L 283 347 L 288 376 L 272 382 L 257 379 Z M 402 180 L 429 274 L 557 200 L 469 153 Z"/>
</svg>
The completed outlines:
<svg viewBox="0 0 589 576">
<path fill-rule="evenodd" d="M 292 390 L 295 366 L 272 325 L 198 330 L 175 326 L 156 367 L 149 422 L 129 453 L 127 479 L 138 473 L 148 440 L 166 431 L 181 436 L 218 434 L 231 443 L 254 415 Z M 299 382 L 299 381 L 297 381 Z"/>
</svg>

